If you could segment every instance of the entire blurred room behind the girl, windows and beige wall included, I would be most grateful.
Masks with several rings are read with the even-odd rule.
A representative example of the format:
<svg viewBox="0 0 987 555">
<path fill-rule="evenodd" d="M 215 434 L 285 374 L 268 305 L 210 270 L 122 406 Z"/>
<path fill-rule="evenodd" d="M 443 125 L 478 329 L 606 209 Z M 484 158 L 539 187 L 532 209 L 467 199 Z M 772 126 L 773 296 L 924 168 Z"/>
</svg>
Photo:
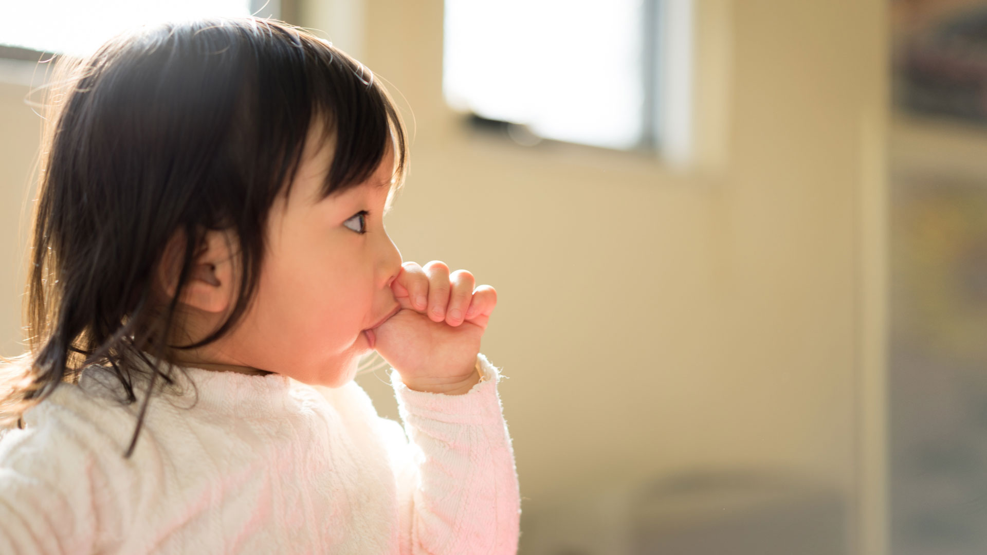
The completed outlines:
<svg viewBox="0 0 987 555">
<path fill-rule="evenodd" d="M 987 552 L 987 2 L 0 5 L 0 355 L 44 52 L 274 17 L 398 99 L 405 260 L 497 289 L 521 553 Z"/>
</svg>

